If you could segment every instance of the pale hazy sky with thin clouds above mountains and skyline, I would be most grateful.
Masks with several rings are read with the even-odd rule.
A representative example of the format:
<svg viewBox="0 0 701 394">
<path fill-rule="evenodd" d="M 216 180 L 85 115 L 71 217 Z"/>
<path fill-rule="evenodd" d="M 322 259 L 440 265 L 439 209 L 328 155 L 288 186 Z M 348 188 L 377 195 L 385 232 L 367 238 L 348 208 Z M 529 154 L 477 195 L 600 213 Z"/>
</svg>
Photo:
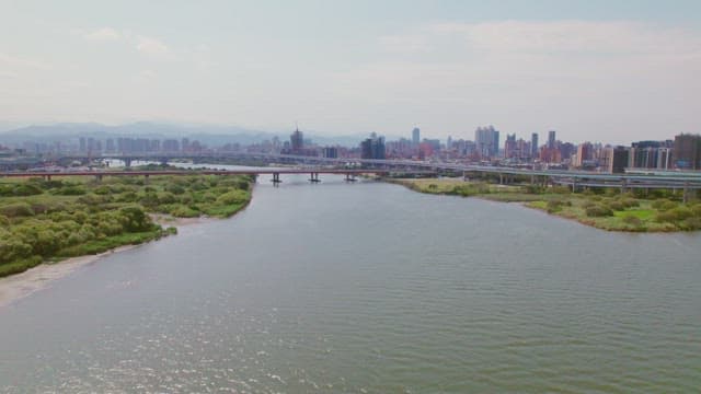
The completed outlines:
<svg viewBox="0 0 701 394">
<path fill-rule="evenodd" d="M 0 0 L 0 124 L 701 131 L 701 1 Z"/>
</svg>

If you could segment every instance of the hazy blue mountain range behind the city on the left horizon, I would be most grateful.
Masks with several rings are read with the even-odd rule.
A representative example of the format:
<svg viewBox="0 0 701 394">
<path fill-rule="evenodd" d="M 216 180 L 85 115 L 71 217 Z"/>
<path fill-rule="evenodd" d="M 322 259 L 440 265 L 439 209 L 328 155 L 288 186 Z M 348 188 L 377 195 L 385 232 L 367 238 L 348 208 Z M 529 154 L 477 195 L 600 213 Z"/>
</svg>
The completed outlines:
<svg viewBox="0 0 701 394">
<path fill-rule="evenodd" d="M 33 125 L 0 132 L 0 143 L 21 144 L 31 142 L 51 142 L 76 140 L 79 137 L 92 137 L 95 139 L 131 137 L 149 139 L 189 138 L 197 139 L 207 146 L 221 146 L 225 143 L 251 144 L 269 140 L 274 137 L 283 141 L 289 139 L 288 131 L 271 132 L 246 129 L 238 126 L 212 125 L 171 125 L 150 121 L 138 121 L 118 126 L 107 126 L 97 123 L 62 123 L 55 125 Z M 302 130 L 303 131 L 303 130 Z M 363 135 L 329 137 L 315 135 L 313 131 L 303 131 L 304 138 L 314 143 L 341 144 L 356 147 L 366 138 Z"/>
</svg>

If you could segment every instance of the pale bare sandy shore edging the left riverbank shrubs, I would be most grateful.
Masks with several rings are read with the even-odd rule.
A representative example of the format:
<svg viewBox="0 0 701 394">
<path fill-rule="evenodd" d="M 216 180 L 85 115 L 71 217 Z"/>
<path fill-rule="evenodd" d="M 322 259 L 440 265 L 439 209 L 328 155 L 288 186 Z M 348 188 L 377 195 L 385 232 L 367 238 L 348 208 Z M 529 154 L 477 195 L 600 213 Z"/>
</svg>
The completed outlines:
<svg viewBox="0 0 701 394">
<path fill-rule="evenodd" d="M 166 215 L 152 215 L 154 223 L 168 227 L 183 227 L 198 223 L 206 223 L 217 219 L 212 218 L 174 218 Z M 78 268 L 97 262 L 104 256 L 113 253 L 124 252 L 139 245 L 125 245 L 107 251 L 105 253 L 88 256 L 79 256 L 65 259 L 55 264 L 42 264 L 18 275 L 0 278 L 0 308 L 12 303 L 21 298 L 27 297 L 35 291 L 47 288 L 54 280 L 60 279 Z"/>
</svg>

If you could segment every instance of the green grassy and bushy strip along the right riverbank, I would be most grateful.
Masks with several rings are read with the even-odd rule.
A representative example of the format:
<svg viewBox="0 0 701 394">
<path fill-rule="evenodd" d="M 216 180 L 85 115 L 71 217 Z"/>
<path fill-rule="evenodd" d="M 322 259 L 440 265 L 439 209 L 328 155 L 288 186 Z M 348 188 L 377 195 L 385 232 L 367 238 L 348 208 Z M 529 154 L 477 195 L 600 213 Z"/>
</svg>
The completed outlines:
<svg viewBox="0 0 701 394">
<path fill-rule="evenodd" d="M 588 189 L 567 187 L 494 185 L 456 178 L 388 178 L 391 183 L 428 194 L 479 197 L 502 202 L 522 202 L 562 218 L 608 231 L 673 232 L 701 230 L 701 201 L 681 202 L 673 190 Z"/>
</svg>

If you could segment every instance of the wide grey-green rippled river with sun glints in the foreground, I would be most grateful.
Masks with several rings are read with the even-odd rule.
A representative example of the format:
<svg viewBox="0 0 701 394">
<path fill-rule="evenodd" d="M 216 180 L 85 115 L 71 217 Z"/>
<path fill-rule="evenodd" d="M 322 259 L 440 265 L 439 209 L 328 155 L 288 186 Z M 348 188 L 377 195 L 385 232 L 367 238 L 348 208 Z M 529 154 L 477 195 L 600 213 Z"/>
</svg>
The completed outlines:
<svg viewBox="0 0 701 394">
<path fill-rule="evenodd" d="M 0 309 L 0 392 L 693 392 L 701 235 L 261 177 Z"/>
</svg>

